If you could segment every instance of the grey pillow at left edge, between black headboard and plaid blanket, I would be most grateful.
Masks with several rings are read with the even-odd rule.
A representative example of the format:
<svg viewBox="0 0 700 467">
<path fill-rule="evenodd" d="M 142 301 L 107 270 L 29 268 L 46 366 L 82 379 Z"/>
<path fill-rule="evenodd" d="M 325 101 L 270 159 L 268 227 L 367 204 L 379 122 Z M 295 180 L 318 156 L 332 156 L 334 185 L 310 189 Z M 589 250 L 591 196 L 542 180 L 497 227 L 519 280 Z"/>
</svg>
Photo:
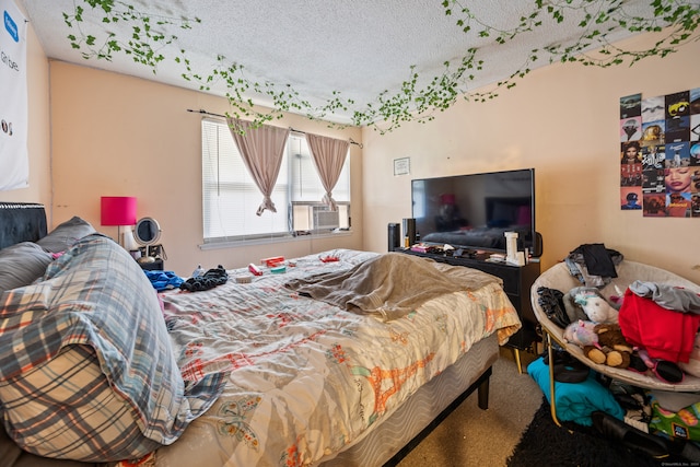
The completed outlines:
<svg viewBox="0 0 700 467">
<path fill-rule="evenodd" d="M 50 253 L 32 242 L 0 249 L 0 295 L 5 290 L 28 285 L 44 276 L 52 259 Z"/>
</svg>

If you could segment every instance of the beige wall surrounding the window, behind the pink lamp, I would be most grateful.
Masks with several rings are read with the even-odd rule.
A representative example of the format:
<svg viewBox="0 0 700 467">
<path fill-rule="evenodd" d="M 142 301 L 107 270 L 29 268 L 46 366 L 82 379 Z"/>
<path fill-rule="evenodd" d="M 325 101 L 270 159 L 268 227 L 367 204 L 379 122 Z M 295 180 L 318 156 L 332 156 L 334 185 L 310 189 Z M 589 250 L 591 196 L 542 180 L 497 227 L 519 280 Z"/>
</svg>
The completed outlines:
<svg viewBox="0 0 700 467">
<path fill-rule="evenodd" d="M 224 114 L 228 101 L 60 61 L 50 61 L 50 77 L 54 225 L 80 215 L 116 238 L 116 227 L 100 225 L 100 197 L 135 196 L 138 217 L 161 224 L 166 269 L 180 276 L 189 276 L 198 264 L 234 268 L 270 256 L 362 248 L 362 151 L 357 145 L 350 153 L 352 234 L 201 250 L 202 117 L 187 109 Z M 357 128 L 329 129 L 299 116 L 272 125 L 361 138 Z"/>
</svg>

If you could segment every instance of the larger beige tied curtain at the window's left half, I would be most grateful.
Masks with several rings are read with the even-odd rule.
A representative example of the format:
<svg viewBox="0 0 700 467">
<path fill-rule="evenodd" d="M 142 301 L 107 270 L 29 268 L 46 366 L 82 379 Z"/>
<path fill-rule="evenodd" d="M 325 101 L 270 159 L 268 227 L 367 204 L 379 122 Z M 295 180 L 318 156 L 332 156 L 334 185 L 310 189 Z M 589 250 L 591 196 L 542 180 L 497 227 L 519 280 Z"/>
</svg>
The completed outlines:
<svg viewBox="0 0 700 467">
<path fill-rule="evenodd" d="M 256 214 L 261 215 L 266 209 L 277 212 L 271 196 L 282 165 L 289 128 L 267 125 L 256 128 L 250 121 L 237 118 L 226 118 L 226 121 L 243 162 L 262 194 L 262 203 Z"/>
</svg>

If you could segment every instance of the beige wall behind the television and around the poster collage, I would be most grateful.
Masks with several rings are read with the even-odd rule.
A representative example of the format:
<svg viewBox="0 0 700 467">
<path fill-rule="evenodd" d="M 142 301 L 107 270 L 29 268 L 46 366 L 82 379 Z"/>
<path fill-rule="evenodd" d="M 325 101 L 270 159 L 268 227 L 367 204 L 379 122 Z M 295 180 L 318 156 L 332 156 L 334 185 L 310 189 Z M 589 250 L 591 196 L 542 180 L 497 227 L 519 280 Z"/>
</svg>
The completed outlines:
<svg viewBox="0 0 700 467">
<path fill-rule="evenodd" d="M 700 86 L 698 57 L 700 42 L 632 68 L 553 65 L 491 102 L 460 101 L 425 125 L 385 136 L 364 129 L 365 249 L 385 250 L 387 223 L 410 217 L 411 178 L 535 167 L 542 270 L 581 244 L 604 243 L 700 283 L 700 219 L 621 211 L 618 159 L 620 97 Z M 394 176 L 393 160 L 405 156 L 411 174 Z"/>
</svg>

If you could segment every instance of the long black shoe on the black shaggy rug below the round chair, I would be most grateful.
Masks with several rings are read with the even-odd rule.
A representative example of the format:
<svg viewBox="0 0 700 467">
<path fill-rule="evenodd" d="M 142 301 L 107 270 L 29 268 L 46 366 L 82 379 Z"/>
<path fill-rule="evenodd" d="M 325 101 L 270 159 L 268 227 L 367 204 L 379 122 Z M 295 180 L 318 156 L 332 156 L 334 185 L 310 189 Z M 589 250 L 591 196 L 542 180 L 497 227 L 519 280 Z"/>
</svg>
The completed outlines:
<svg viewBox="0 0 700 467">
<path fill-rule="evenodd" d="M 620 441 L 630 450 L 640 451 L 656 459 L 669 456 L 668 446 L 661 436 L 644 433 L 599 410 L 591 413 L 591 418 L 596 430 L 608 440 Z"/>
</svg>

